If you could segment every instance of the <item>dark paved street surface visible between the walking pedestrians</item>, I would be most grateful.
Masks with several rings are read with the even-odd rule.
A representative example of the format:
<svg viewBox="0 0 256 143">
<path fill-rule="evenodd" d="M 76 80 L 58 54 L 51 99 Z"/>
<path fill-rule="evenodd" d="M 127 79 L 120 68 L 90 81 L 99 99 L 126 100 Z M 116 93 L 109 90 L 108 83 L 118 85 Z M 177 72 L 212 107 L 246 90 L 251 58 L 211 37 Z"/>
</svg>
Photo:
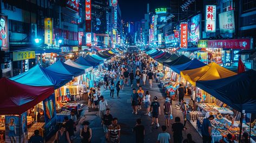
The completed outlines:
<svg viewBox="0 0 256 143">
<path fill-rule="evenodd" d="M 142 86 L 142 88 L 145 92 L 147 90 L 149 91 L 152 100 L 154 96 L 159 96 L 159 102 L 162 110 L 162 105 L 165 99 L 163 98 L 164 93 L 162 92 L 162 89 L 159 88 L 159 83 L 153 83 L 153 87 L 151 89 L 149 88 L 149 85 Z M 104 90 L 103 87 L 101 87 L 101 90 L 104 98 L 108 102 L 109 108 L 111 109 L 111 114 L 113 115 L 113 117 L 118 118 L 119 124 L 121 125 L 121 143 L 135 142 L 135 135 L 132 132 L 132 128 L 136 124 L 137 118 L 141 118 L 142 124 L 145 125 L 145 130 L 146 130 L 145 142 L 148 142 L 148 143 L 156 142 L 157 135 L 161 132 L 161 128 L 156 129 L 155 126 L 150 126 L 152 118 L 144 115 L 144 113 L 146 112 L 145 108 L 142 108 L 142 111 L 139 111 L 137 115 L 132 114 L 132 107 L 130 103 L 130 94 L 132 93 L 132 88 L 130 86 L 124 86 L 124 89 L 120 91 L 121 99 L 116 98 L 116 91 L 115 91 L 115 98 L 111 99 L 109 98 L 110 90 Z M 175 104 L 176 104 L 176 101 L 173 101 L 172 109 L 173 109 L 174 118 L 176 116 L 182 117 L 182 113 L 179 110 L 176 110 Z M 95 143 L 106 142 L 104 139 L 104 133 L 103 133 L 103 128 L 101 125 L 101 119 L 99 117 L 99 113 L 88 112 L 87 107 L 84 107 L 84 111 L 81 115 L 82 118 L 80 120 L 80 124 L 82 120 L 84 120 L 83 115 L 86 115 L 86 120 L 90 121 L 90 127 L 93 130 L 92 142 L 95 142 Z M 162 113 L 160 115 L 159 121 L 160 121 L 160 126 L 165 124 Z M 174 120 L 171 121 L 171 123 L 173 122 Z M 78 128 L 79 126 L 80 125 L 78 125 Z M 198 134 L 198 132 L 195 131 L 195 129 L 192 127 L 192 125 L 189 122 L 187 123 L 187 128 L 188 129 L 185 132 L 183 132 L 183 138 L 186 138 L 187 133 L 191 133 L 193 139 L 196 142 L 202 142 L 200 135 Z M 171 126 L 168 128 L 168 132 L 172 134 Z M 76 133 L 76 135 L 77 135 L 77 138 L 74 141 L 75 143 L 80 142 L 80 137 L 78 135 L 78 132 Z"/>
</svg>

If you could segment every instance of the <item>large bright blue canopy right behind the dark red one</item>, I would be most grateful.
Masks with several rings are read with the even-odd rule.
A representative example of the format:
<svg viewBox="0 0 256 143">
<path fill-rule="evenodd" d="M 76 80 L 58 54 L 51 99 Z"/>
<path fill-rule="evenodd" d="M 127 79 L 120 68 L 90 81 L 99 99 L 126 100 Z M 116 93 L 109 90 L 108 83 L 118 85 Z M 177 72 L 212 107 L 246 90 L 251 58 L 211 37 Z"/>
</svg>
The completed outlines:
<svg viewBox="0 0 256 143">
<path fill-rule="evenodd" d="M 72 80 L 73 76 L 71 74 L 53 72 L 36 65 L 27 72 L 10 79 L 25 85 L 54 86 L 54 88 L 57 89 Z"/>
</svg>

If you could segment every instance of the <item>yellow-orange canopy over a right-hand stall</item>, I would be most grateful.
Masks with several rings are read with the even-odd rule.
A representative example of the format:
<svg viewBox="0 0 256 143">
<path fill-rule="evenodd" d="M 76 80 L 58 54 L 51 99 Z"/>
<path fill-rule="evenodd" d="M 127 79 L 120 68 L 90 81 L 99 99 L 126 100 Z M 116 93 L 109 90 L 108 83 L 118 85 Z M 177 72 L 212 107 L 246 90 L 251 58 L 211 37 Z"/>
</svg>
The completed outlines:
<svg viewBox="0 0 256 143">
<path fill-rule="evenodd" d="M 216 80 L 234 76 L 235 72 L 229 71 L 216 63 L 210 63 L 197 69 L 181 71 L 181 76 L 192 85 L 196 85 L 199 80 Z"/>
</svg>

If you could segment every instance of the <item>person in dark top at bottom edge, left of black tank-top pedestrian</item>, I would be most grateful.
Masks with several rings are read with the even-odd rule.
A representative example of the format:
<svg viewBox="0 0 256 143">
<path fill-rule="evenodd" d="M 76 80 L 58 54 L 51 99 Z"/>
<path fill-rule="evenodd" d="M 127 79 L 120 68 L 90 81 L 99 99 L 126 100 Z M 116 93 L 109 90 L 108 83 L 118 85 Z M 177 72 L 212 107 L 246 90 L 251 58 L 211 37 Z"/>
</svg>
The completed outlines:
<svg viewBox="0 0 256 143">
<path fill-rule="evenodd" d="M 61 125 L 60 130 L 55 135 L 55 141 L 56 143 L 71 143 L 70 141 L 70 135 L 69 132 L 66 131 L 65 125 Z"/>
</svg>

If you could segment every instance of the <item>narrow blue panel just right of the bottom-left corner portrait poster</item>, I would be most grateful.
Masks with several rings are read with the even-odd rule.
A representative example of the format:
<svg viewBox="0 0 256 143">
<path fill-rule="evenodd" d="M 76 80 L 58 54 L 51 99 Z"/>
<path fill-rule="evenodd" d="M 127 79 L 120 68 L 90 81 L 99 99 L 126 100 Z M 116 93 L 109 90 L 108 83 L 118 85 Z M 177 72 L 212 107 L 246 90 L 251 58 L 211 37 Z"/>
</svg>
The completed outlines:
<svg viewBox="0 0 256 143">
<path fill-rule="evenodd" d="M 21 114 L 21 142 L 28 142 L 27 112 Z"/>
</svg>

